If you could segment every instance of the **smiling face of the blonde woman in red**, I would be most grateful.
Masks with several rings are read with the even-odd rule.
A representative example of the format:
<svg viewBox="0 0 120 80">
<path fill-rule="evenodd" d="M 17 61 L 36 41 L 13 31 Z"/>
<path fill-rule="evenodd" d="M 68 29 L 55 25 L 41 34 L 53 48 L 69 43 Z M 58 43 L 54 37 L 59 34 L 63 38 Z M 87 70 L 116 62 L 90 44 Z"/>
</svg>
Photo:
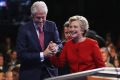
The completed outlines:
<svg viewBox="0 0 120 80">
<path fill-rule="evenodd" d="M 83 31 L 80 27 L 80 21 L 76 20 L 70 23 L 70 33 L 72 39 L 80 38 L 82 36 Z"/>
</svg>

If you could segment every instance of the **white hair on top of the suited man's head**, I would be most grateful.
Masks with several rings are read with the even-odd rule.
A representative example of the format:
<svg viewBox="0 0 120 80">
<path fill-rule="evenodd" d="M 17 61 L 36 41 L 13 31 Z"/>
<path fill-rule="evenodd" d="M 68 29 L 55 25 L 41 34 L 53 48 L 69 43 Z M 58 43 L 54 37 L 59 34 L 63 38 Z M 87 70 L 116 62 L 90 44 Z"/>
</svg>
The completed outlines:
<svg viewBox="0 0 120 80">
<path fill-rule="evenodd" d="M 45 13 L 45 14 L 48 13 L 48 8 L 45 2 L 36 1 L 33 3 L 33 5 L 31 6 L 31 14 L 34 15 L 36 12 Z"/>
</svg>

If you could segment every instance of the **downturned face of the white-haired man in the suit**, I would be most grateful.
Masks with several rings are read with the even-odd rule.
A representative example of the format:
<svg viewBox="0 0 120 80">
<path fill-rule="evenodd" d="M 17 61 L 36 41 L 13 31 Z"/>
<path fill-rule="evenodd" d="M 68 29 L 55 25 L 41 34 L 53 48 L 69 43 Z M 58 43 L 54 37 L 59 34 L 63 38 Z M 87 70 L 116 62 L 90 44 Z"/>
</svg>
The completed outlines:
<svg viewBox="0 0 120 80">
<path fill-rule="evenodd" d="M 43 27 L 46 21 L 46 16 L 47 16 L 46 13 L 36 13 L 33 15 L 33 20 L 38 27 Z"/>
</svg>

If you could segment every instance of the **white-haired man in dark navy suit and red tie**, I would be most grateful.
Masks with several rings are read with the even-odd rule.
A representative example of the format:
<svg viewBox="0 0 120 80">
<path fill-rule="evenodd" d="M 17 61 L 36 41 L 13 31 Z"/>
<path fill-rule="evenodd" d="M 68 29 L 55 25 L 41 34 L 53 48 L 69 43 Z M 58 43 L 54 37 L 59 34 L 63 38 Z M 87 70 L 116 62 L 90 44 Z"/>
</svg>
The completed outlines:
<svg viewBox="0 0 120 80">
<path fill-rule="evenodd" d="M 47 46 L 50 41 L 59 44 L 61 40 L 56 24 L 46 20 L 47 12 L 43 1 L 36 1 L 31 7 L 33 20 L 19 28 L 16 51 L 21 62 L 20 80 L 43 80 L 52 76 L 48 70 L 51 64 Z"/>
</svg>

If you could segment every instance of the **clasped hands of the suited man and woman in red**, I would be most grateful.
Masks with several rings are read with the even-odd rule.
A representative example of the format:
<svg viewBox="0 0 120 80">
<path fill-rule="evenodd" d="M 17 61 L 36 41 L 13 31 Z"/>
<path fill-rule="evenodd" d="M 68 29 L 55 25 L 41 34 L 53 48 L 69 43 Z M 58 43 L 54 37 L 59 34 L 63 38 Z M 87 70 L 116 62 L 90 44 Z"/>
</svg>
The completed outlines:
<svg viewBox="0 0 120 80">
<path fill-rule="evenodd" d="M 50 41 L 47 48 L 44 50 L 44 56 L 52 56 L 55 53 L 57 53 L 58 45 L 54 43 L 53 41 Z"/>
</svg>

